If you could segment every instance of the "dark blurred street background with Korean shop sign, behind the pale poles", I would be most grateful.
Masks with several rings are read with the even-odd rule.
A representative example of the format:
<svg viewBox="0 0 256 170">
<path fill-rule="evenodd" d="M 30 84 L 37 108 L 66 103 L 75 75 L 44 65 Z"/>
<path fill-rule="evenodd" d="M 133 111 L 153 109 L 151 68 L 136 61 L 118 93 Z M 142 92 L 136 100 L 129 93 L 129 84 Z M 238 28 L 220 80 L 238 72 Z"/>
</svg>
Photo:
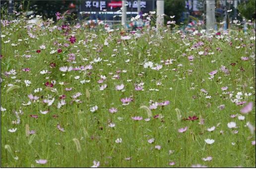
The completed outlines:
<svg viewBox="0 0 256 170">
<path fill-rule="evenodd" d="M 235 19 L 254 20 L 256 11 L 255 0 L 215 0 L 215 22 L 222 23 L 225 28 Z M 18 13 L 27 11 L 27 15 L 41 15 L 42 18 L 52 18 L 56 20 L 55 13 L 64 13 L 68 10 L 67 15 L 70 18 L 67 22 L 76 20 L 87 20 L 88 22 L 97 22 L 102 20 L 108 24 L 121 22 L 122 0 L 1 0 L 1 13 L 5 11 L 10 15 L 18 17 Z M 130 21 L 131 17 L 156 11 L 157 0 L 126 0 L 127 5 L 127 26 L 134 23 Z M 5 9 L 5 10 L 4 10 Z M 193 27 L 198 23 L 206 21 L 206 1 L 205 0 L 165 0 L 163 13 L 167 15 L 165 23 L 169 20 L 176 21 L 181 27 Z M 170 16 L 175 15 L 174 18 Z M 198 19 L 198 23 L 192 17 Z M 35 18 L 36 19 L 36 18 Z M 142 22 L 142 21 L 137 21 Z"/>
</svg>

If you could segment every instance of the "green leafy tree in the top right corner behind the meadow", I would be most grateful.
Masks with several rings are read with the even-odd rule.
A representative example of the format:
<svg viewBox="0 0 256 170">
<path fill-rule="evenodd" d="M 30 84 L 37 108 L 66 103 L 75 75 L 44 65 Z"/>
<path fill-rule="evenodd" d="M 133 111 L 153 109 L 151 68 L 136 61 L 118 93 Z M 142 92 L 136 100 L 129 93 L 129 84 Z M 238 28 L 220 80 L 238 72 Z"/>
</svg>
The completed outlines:
<svg viewBox="0 0 256 170">
<path fill-rule="evenodd" d="M 240 3 L 237 7 L 242 16 L 246 19 L 252 19 L 253 15 L 255 15 L 256 10 L 256 1 L 255 0 L 246 0 Z"/>
</svg>

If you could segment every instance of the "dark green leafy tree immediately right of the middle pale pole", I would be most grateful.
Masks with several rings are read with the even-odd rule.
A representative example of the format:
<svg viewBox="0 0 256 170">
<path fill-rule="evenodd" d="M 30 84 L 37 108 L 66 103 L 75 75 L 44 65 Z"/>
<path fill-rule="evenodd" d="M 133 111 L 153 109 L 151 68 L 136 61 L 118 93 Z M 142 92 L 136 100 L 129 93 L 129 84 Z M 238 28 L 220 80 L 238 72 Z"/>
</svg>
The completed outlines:
<svg viewBox="0 0 256 170">
<path fill-rule="evenodd" d="M 164 1 L 164 13 L 167 15 L 168 20 L 174 20 L 176 21 L 176 24 L 180 24 L 181 22 L 184 22 L 184 14 L 183 12 L 186 11 L 186 4 L 183 0 L 165 0 Z M 170 18 L 170 16 L 175 15 L 173 19 Z"/>
</svg>

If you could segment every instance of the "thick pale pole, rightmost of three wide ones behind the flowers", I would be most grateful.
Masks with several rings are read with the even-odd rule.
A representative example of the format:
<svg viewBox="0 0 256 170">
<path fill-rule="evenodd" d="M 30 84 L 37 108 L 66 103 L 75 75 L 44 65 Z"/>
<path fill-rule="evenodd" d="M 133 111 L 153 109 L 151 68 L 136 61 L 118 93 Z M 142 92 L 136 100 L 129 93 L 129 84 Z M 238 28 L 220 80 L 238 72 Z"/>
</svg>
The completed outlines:
<svg viewBox="0 0 256 170">
<path fill-rule="evenodd" d="M 215 23 L 215 0 L 206 0 L 206 31 L 214 27 Z"/>
</svg>

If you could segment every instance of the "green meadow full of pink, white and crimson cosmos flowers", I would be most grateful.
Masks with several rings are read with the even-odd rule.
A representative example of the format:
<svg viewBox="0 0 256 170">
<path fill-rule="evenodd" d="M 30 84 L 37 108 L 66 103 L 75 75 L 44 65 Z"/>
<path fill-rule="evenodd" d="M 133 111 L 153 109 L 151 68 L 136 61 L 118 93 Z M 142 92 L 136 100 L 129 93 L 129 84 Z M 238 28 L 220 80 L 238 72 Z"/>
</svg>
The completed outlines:
<svg viewBox="0 0 256 170">
<path fill-rule="evenodd" d="M 56 15 L 1 17 L 1 167 L 255 167 L 253 21 Z"/>
</svg>

